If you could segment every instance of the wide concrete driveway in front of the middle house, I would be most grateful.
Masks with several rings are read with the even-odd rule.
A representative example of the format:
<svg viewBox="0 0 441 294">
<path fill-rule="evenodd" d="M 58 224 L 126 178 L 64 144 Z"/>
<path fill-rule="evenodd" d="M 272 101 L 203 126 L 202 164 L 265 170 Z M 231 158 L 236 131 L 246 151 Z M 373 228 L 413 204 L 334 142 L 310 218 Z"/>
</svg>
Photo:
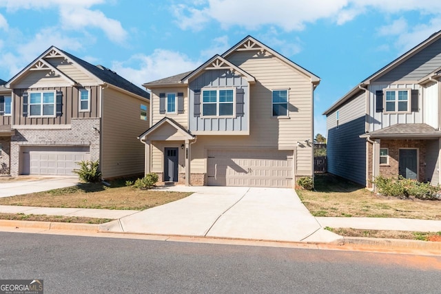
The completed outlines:
<svg viewBox="0 0 441 294">
<path fill-rule="evenodd" d="M 101 229 L 287 242 L 331 242 L 340 238 L 320 227 L 294 189 L 183 186 L 162 189 L 195 193 L 103 224 Z"/>
</svg>

